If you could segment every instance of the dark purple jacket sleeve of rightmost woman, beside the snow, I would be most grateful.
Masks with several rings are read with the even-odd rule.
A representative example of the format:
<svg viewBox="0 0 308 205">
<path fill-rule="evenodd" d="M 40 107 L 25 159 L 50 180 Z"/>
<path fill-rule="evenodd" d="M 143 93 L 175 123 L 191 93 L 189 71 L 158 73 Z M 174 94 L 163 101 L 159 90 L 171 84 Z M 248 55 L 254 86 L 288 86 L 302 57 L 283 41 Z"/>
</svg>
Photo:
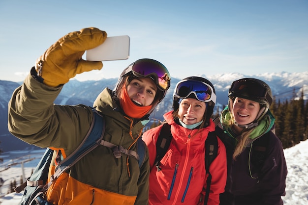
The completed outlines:
<svg viewBox="0 0 308 205">
<path fill-rule="evenodd" d="M 261 169 L 261 191 L 263 205 L 283 205 L 281 196 L 285 196 L 285 180 L 287 176 L 287 166 L 283 154 L 282 143 L 272 134 L 270 136 L 268 157 Z"/>
</svg>

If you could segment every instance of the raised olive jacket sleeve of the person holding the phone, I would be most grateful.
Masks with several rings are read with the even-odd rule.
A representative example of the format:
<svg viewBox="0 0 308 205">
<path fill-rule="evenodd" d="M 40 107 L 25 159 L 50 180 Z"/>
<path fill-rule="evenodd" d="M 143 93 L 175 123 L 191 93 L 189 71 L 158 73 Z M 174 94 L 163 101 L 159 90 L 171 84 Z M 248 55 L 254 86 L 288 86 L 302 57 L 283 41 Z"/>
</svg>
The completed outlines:
<svg viewBox="0 0 308 205">
<path fill-rule="evenodd" d="M 8 104 L 8 129 L 19 139 L 41 148 L 54 147 L 70 154 L 92 122 L 91 108 L 53 102 L 61 87 L 49 87 L 29 75 Z"/>
</svg>

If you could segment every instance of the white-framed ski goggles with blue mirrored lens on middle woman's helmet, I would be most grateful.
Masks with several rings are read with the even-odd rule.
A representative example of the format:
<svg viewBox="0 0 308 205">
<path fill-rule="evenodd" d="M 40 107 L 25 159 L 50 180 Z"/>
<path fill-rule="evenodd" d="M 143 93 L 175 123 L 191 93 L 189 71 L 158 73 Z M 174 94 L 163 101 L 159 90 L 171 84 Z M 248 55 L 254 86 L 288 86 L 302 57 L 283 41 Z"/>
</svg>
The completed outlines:
<svg viewBox="0 0 308 205">
<path fill-rule="evenodd" d="M 176 85 L 174 96 L 178 98 L 187 98 L 194 94 L 198 101 L 216 103 L 216 95 L 211 85 L 195 80 L 182 80 Z"/>
</svg>

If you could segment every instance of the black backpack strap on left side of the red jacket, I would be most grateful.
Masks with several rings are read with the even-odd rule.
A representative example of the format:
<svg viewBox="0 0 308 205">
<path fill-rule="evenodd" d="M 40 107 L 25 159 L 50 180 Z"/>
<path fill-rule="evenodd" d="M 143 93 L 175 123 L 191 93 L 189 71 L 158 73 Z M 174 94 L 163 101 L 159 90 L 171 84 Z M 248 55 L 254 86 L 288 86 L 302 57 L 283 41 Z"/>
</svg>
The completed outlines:
<svg viewBox="0 0 308 205">
<path fill-rule="evenodd" d="M 160 160 L 167 153 L 167 150 L 171 143 L 172 134 L 170 128 L 171 126 L 168 123 L 164 123 L 157 137 L 156 158 L 154 161 L 154 165 L 157 168 L 157 172 L 161 170 Z"/>
</svg>

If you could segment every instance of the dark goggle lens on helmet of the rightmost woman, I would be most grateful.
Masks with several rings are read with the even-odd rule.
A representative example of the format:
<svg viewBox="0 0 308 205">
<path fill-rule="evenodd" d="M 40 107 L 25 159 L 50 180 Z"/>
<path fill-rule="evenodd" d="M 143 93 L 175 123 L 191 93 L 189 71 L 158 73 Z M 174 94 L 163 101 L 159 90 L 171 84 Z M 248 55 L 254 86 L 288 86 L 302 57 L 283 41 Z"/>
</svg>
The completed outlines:
<svg viewBox="0 0 308 205">
<path fill-rule="evenodd" d="M 265 98 L 266 95 L 266 89 L 252 80 L 235 81 L 231 85 L 230 91 L 234 94 L 240 94 L 252 98 Z"/>
</svg>

